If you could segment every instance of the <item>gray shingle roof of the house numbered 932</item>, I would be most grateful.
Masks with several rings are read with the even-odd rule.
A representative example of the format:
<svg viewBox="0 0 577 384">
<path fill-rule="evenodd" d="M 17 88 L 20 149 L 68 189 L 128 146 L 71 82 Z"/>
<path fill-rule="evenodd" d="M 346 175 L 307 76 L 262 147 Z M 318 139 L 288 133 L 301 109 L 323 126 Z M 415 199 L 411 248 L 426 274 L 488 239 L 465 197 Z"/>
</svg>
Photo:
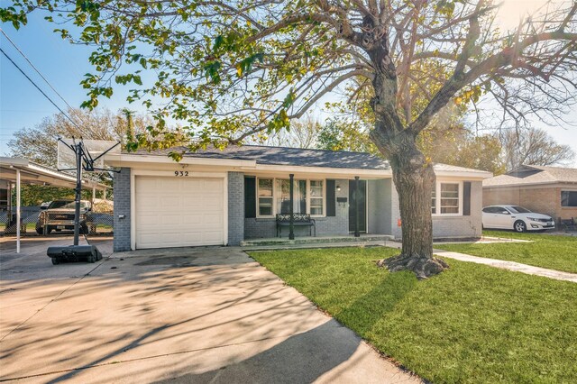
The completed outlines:
<svg viewBox="0 0 577 384">
<path fill-rule="evenodd" d="M 163 155 L 169 151 L 184 151 L 187 158 L 256 160 L 258 164 L 292 165 L 304 167 L 326 167 L 343 169 L 383 169 L 388 170 L 389 162 L 364 152 L 303 150 L 300 148 L 266 147 L 257 145 L 230 145 L 224 150 L 213 147 L 197 152 L 187 151 L 186 147 L 171 148 L 163 151 L 137 151 L 137 155 Z"/>
</svg>

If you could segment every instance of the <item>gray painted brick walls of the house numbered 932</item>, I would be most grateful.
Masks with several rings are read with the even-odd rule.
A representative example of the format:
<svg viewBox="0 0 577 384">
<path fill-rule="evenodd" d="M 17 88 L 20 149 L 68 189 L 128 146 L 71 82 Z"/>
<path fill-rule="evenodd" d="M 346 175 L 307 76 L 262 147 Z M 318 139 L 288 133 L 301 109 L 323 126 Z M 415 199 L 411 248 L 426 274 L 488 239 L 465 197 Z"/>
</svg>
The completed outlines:
<svg viewBox="0 0 577 384">
<path fill-rule="evenodd" d="M 349 180 L 336 179 L 335 197 L 346 197 L 346 203 L 336 203 L 335 216 L 317 217 L 316 234 L 349 233 Z M 244 239 L 272 238 L 276 236 L 274 218 L 244 217 L 244 175 L 242 172 L 228 172 L 228 244 L 239 245 Z M 559 192 L 560 193 L 560 192 Z M 392 234 L 401 237 L 398 227 L 400 217 L 398 193 L 390 178 L 369 180 L 368 194 L 368 233 Z M 435 237 L 478 237 L 481 236 L 481 181 L 472 182 L 470 216 L 433 218 Z M 122 168 L 114 174 L 114 251 L 131 249 L 131 169 Z M 545 199 L 544 199 L 545 200 Z M 519 204 L 515 202 L 515 204 Z M 577 211 L 577 210 L 574 210 Z M 120 218 L 124 215 L 124 218 Z M 571 215 L 571 214 L 570 214 Z M 577 216 L 577 212 L 572 214 Z M 308 236 L 308 227 L 296 227 L 296 236 Z M 283 228 L 283 237 L 289 235 Z"/>
</svg>

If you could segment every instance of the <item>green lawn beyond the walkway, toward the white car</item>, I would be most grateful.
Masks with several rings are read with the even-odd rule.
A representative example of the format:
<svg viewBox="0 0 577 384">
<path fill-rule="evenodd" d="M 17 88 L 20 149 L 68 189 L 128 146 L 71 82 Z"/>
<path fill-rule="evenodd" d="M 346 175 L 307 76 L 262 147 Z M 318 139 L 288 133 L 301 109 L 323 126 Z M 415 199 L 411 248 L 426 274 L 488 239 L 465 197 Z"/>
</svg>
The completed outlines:
<svg viewBox="0 0 577 384">
<path fill-rule="evenodd" d="M 439 244 L 435 245 L 435 248 L 577 273 L 577 237 L 505 231 L 483 231 L 483 235 L 531 240 L 533 242 Z"/>
</svg>

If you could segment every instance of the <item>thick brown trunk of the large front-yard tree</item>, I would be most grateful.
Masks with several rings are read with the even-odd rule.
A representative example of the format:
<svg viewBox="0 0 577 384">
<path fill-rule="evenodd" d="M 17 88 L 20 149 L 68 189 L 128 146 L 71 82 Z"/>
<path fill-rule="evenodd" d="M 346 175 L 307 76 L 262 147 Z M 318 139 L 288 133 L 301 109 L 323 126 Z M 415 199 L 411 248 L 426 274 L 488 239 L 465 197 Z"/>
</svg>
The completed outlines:
<svg viewBox="0 0 577 384">
<path fill-rule="evenodd" d="M 365 23 L 370 26 L 371 21 L 365 20 Z M 377 39 L 373 41 L 374 37 Z M 417 134 L 399 118 L 397 70 L 389 57 L 386 30 L 379 36 L 367 34 L 366 40 L 373 41 L 367 52 L 375 68 L 372 79 L 375 96 L 371 99 L 375 128 L 371 131 L 371 140 L 389 158 L 403 231 L 402 253 L 379 261 L 379 265 L 390 271 L 412 270 L 418 279 L 426 279 L 448 268 L 444 261 L 433 257 L 431 193 L 435 172 L 417 148 Z"/>
</svg>

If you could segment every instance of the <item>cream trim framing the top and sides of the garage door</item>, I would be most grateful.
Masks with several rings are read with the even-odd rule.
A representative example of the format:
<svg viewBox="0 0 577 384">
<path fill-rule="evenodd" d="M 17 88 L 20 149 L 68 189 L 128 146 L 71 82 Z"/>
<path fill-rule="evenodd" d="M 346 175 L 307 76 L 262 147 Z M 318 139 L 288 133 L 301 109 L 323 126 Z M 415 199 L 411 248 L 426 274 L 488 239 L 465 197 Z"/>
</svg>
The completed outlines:
<svg viewBox="0 0 577 384">
<path fill-rule="evenodd" d="M 130 248 L 136 250 L 136 176 L 158 176 L 176 178 L 174 170 L 131 169 L 130 173 Z M 223 245 L 228 244 L 228 172 L 190 172 L 185 178 L 223 178 Z"/>
</svg>

